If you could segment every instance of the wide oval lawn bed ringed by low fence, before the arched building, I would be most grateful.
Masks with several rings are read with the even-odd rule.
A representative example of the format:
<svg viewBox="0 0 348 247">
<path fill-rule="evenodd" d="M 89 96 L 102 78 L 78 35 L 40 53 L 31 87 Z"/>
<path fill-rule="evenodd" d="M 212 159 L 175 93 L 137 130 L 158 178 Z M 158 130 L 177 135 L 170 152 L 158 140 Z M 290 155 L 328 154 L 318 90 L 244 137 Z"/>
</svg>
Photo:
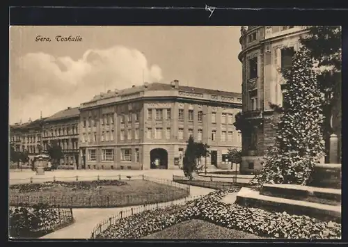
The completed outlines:
<svg viewBox="0 0 348 247">
<path fill-rule="evenodd" d="M 171 183 L 173 184 L 173 183 Z M 189 195 L 189 190 L 148 180 L 45 182 L 10 186 L 10 205 L 47 203 L 52 207 L 125 207 L 168 202 Z"/>
</svg>

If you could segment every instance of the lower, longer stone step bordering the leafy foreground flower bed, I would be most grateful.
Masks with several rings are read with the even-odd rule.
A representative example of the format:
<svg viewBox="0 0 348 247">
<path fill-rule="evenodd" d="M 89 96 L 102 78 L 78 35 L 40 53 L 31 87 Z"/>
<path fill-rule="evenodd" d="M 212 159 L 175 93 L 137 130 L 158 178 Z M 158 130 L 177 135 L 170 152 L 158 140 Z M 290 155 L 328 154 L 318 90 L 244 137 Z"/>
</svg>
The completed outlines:
<svg viewBox="0 0 348 247">
<path fill-rule="evenodd" d="M 245 207 L 257 207 L 276 212 L 285 211 L 288 214 L 306 215 L 322 221 L 341 223 L 341 206 L 264 196 L 260 194 L 260 191 L 246 187 L 237 193 L 236 203 Z"/>
</svg>

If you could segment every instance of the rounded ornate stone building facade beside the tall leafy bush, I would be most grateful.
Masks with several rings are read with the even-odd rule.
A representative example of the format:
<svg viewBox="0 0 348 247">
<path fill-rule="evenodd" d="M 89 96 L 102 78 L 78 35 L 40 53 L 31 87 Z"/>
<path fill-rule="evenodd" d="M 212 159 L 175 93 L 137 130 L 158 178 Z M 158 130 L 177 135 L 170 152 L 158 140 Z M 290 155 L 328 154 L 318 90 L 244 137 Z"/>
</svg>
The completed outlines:
<svg viewBox="0 0 348 247">
<path fill-rule="evenodd" d="M 276 128 L 270 104 L 283 104 L 285 80 L 280 69 L 292 66 L 299 39 L 308 31 L 308 26 L 243 26 L 241 29 L 239 61 L 243 68 L 244 120 L 241 173 L 258 173 L 262 157 L 274 145 Z"/>
</svg>

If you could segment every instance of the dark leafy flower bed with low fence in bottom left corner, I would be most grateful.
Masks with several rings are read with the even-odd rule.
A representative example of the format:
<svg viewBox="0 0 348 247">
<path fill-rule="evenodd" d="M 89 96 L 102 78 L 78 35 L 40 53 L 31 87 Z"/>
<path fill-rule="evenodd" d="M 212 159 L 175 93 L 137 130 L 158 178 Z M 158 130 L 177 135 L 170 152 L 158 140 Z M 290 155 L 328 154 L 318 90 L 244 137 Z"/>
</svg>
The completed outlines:
<svg viewBox="0 0 348 247">
<path fill-rule="evenodd" d="M 51 208 L 45 204 L 10 207 L 9 213 L 9 235 L 13 238 L 42 237 L 74 222 L 70 209 Z"/>
</svg>

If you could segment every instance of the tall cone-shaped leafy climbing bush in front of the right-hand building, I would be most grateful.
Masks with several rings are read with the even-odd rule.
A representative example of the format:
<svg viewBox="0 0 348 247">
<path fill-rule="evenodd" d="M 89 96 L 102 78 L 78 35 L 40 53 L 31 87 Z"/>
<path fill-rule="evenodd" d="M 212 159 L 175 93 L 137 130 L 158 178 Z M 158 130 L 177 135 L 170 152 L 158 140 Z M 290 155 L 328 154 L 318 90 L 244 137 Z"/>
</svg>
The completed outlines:
<svg viewBox="0 0 348 247">
<path fill-rule="evenodd" d="M 323 115 L 313 59 L 306 47 L 294 54 L 293 65 L 283 71 L 286 80 L 283 112 L 276 145 L 263 160 L 260 184 L 307 184 L 315 164 L 324 155 Z"/>
</svg>

